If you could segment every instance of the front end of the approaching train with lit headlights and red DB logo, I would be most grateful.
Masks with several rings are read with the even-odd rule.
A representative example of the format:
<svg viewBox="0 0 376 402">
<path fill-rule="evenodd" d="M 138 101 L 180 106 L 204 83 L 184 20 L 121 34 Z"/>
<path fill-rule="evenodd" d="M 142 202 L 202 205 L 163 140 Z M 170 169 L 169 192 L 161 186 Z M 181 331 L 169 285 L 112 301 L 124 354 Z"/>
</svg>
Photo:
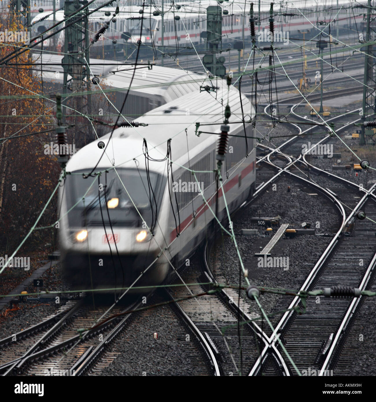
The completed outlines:
<svg viewBox="0 0 376 402">
<path fill-rule="evenodd" d="M 90 170 L 70 172 L 60 188 L 58 233 L 66 281 L 74 289 L 108 292 L 133 285 L 132 293 L 161 283 L 168 264 L 158 256 L 164 222 L 157 224 L 157 217 L 163 217 L 166 179 L 144 169 L 113 167 L 84 178 Z"/>
</svg>

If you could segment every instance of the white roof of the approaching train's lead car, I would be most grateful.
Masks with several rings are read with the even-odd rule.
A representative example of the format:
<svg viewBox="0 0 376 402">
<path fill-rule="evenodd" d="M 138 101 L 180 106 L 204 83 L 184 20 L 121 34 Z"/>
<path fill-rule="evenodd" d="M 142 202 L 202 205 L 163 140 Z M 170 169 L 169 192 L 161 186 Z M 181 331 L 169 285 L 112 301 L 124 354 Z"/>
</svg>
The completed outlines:
<svg viewBox="0 0 376 402">
<path fill-rule="evenodd" d="M 117 168 L 135 168 L 134 158 L 137 158 L 138 162 L 140 162 L 140 168 L 144 168 L 144 138 L 148 144 L 149 156 L 154 159 L 163 159 L 166 156 L 167 140 L 172 138 L 172 159 L 181 166 L 188 163 L 188 142 L 189 158 L 194 163 L 195 157 L 206 147 L 215 144 L 218 139 L 218 135 L 205 133 L 201 133 L 200 137 L 198 137 L 195 134 L 195 123 L 209 123 L 201 126 L 200 130 L 220 133 L 227 98 L 232 113 L 230 122 L 238 122 L 230 125 L 231 131 L 242 127 L 238 90 L 231 87 L 228 91 L 226 86 L 221 86 L 218 92 L 216 94 L 214 92 L 203 91 L 200 93 L 195 91 L 153 109 L 138 119 L 140 123 L 147 123 L 147 127 L 115 129 L 111 142 L 107 147 L 106 155 L 102 157 L 98 168 L 111 168 L 112 160 L 115 160 L 115 167 Z M 241 95 L 241 97 L 245 119 L 249 119 L 250 116 L 253 116 L 251 103 L 244 95 Z M 221 99 L 225 100 L 223 105 Z M 187 135 L 185 129 L 187 129 Z M 73 172 L 81 169 L 91 169 L 103 153 L 103 150 L 97 146 L 98 142 L 103 141 L 107 144 L 109 137 L 110 133 L 79 150 L 68 161 L 66 170 Z M 153 149 L 154 147 L 155 149 Z M 175 165 L 173 169 L 176 170 L 177 167 Z M 166 162 L 150 160 L 149 168 L 166 175 Z"/>
</svg>

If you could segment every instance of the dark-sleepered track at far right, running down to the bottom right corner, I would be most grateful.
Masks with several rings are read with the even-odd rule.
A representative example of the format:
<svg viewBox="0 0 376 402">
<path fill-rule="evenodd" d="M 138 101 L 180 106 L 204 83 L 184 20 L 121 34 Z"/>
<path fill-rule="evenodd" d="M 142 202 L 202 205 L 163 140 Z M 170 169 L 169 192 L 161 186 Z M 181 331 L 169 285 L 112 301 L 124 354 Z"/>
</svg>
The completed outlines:
<svg viewBox="0 0 376 402">
<path fill-rule="evenodd" d="M 352 123 L 353 122 L 348 123 L 347 125 Z M 344 129 L 347 125 L 343 125 L 341 129 Z M 340 129 L 337 129 L 336 131 L 340 131 Z M 301 133 L 302 131 L 299 128 L 299 134 Z M 319 143 L 328 141 L 329 139 L 330 136 L 327 135 L 320 139 Z M 291 142 L 291 140 L 288 142 Z M 286 148 L 286 143 L 279 146 L 277 151 L 274 150 L 273 153 L 281 152 L 281 148 Z M 265 160 L 265 158 L 267 158 L 269 164 L 273 164 L 270 160 L 270 155 L 269 157 L 264 156 L 262 160 Z M 368 221 L 365 224 L 363 221 L 355 222 L 354 215 L 356 211 L 363 208 L 367 203 L 369 206 L 367 209 L 367 215 L 371 217 L 371 219 L 375 218 L 376 203 L 373 194 L 375 185 L 373 185 L 369 190 L 364 191 L 355 183 L 351 183 L 348 180 L 335 176 L 329 172 L 324 172 L 312 164 L 309 164 L 306 155 L 302 157 L 300 154 L 298 159 L 299 162 L 306 166 L 310 166 L 310 168 L 315 169 L 317 172 L 325 173 L 330 178 L 345 183 L 345 185 L 352 187 L 358 191 L 358 193 L 362 193 L 362 197 L 360 201 L 355 204 L 355 207 L 351 205 L 350 208 L 347 208 L 347 215 L 341 205 L 342 224 L 340 230 L 338 230 L 323 255 L 315 264 L 300 291 L 322 289 L 323 287 L 332 287 L 336 285 L 359 287 L 360 290 L 366 289 L 367 286 L 370 286 L 370 279 L 374 274 L 374 266 L 376 262 L 376 254 L 374 253 L 376 240 L 374 237 L 370 238 L 370 232 L 373 234 L 375 228 L 371 221 Z M 281 168 L 277 165 L 274 165 L 274 167 L 279 170 L 279 173 L 282 171 L 287 172 L 286 169 L 298 162 L 298 159 L 295 158 L 294 162 L 292 162 L 291 158 L 286 156 L 288 164 L 285 168 Z M 273 178 L 275 178 L 275 176 L 273 176 Z M 259 191 L 261 189 L 259 189 Z M 341 208 L 339 208 L 339 210 L 340 209 Z M 345 236 L 344 232 L 347 232 L 349 236 Z M 355 254 L 355 256 L 353 249 L 359 250 L 358 254 Z M 344 265 L 343 261 L 349 260 L 350 256 L 351 263 L 349 265 L 351 265 L 351 267 L 346 270 L 345 268 L 347 265 Z M 366 261 L 366 269 L 360 269 L 360 260 Z M 279 336 L 283 339 L 286 349 L 300 370 L 308 370 L 308 368 L 318 369 L 320 370 L 318 371 L 319 375 L 325 375 L 328 368 L 331 367 L 331 362 L 336 361 L 338 358 L 340 340 L 345 333 L 345 329 L 349 324 L 351 317 L 353 317 L 353 314 L 355 314 L 361 302 L 359 297 L 353 297 L 351 301 L 348 299 L 336 299 L 335 303 L 330 303 L 330 301 L 333 301 L 333 299 L 330 299 L 329 302 L 326 304 L 324 302 L 324 305 L 321 304 L 321 306 L 317 304 L 317 301 L 315 300 L 308 299 L 308 301 L 307 311 L 309 307 L 312 308 L 312 310 L 301 316 L 298 316 L 295 312 L 291 311 L 285 313 L 284 317 L 279 321 L 277 326 L 275 326 L 271 338 Z M 328 299 L 325 301 L 328 301 Z M 291 302 L 289 309 L 298 306 L 299 303 L 299 297 L 295 297 Z M 282 306 L 278 307 L 282 308 Z M 323 317 L 330 317 L 330 320 L 327 320 L 329 323 L 327 323 Z M 320 328 L 320 330 L 317 328 Z M 323 338 L 320 338 L 320 336 Z M 304 350 L 304 353 L 302 353 L 302 350 Z M 266 357 L 267 350 L 264 349 L 263 353 L 261 353 L 259 359 L 257 359 L 251 369 L 250 375 L 256 375 L 259 373 L 261 366 L 260 363 L 266 362 Z"/>
</svg>

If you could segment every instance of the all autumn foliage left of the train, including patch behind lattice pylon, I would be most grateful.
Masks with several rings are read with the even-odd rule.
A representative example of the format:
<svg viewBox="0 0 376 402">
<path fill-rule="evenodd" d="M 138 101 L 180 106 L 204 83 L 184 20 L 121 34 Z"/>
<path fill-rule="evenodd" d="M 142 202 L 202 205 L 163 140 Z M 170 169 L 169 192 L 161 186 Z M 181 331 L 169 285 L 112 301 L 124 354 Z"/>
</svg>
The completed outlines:
<svg viewBox="0 0 376 402">
<path fill-rule="evenodd" d="M 5 30 L 26 31 L 15 14 L 0 11 L 0 31 Z M 42 81 L 40 65 L 33 65 L 37 57 L 32 57 L 31 50 L 1 63 L 22 45 L 0 43 L 0 255 L 14 251 L 29 232 L 58 184 L 61 172 L 57 156 L 44 151 L 45 144 L 55 142 L 57 121 L 53 100 L 56 93 L 63 94 L 62 84 Z M 39 45 L 32 51 L 38 56 L 44 50 Z M 89 85 L 87 89 L 94 88 Z M 93 141 L 96 133 L 101 136 L 111 130 L 100 123 L 111 118 L 106 119 L 99 111 L 109 110 L 109 100 L 112 102 L 115 96 L 111 94 L 107 99 L 95 89 L 90 99 L 86 82 L 73 93 L 69 87 L 67 90 L 63 113 L 68 144 L 75 144 L 76 150 Z M 92 123 L 88 115 L 93 117 Z M 25 243 L 25 251 L 39 247 L 46 250 L 46 244 L 58 247 L 54 227 L 57 215 L 55 194 L 37 224 L 37 228 L 51 225 L 53 228 L 34 231 Z"/>
</svg>

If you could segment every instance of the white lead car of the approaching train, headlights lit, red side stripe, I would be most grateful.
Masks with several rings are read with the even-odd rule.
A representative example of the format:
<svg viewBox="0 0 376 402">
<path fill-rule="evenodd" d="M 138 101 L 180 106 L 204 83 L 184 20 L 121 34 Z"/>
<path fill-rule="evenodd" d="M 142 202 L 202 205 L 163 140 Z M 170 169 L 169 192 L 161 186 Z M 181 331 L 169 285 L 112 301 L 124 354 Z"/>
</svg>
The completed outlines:
<svg viewBox="0 0 376 402">
<path fill-rule="evenodd" d="M 243 123 L 243 116 L 247 122 L 254 115 L 251 103 L 224 81 L 207 81 L 206 90 L 197 82 L 194 92 L 68 160 L 59 237 L 64 273 L 75 288 L 133 286 L 142 292 L 138 287 L 162 283 L 214 234 L 217 219 L 226 220 L 226 205 L 231 213 L 253 194 L 253 126 Z M 230 131 L 219 180 L 216 156 L 227 99 Z"/>
</svg>

